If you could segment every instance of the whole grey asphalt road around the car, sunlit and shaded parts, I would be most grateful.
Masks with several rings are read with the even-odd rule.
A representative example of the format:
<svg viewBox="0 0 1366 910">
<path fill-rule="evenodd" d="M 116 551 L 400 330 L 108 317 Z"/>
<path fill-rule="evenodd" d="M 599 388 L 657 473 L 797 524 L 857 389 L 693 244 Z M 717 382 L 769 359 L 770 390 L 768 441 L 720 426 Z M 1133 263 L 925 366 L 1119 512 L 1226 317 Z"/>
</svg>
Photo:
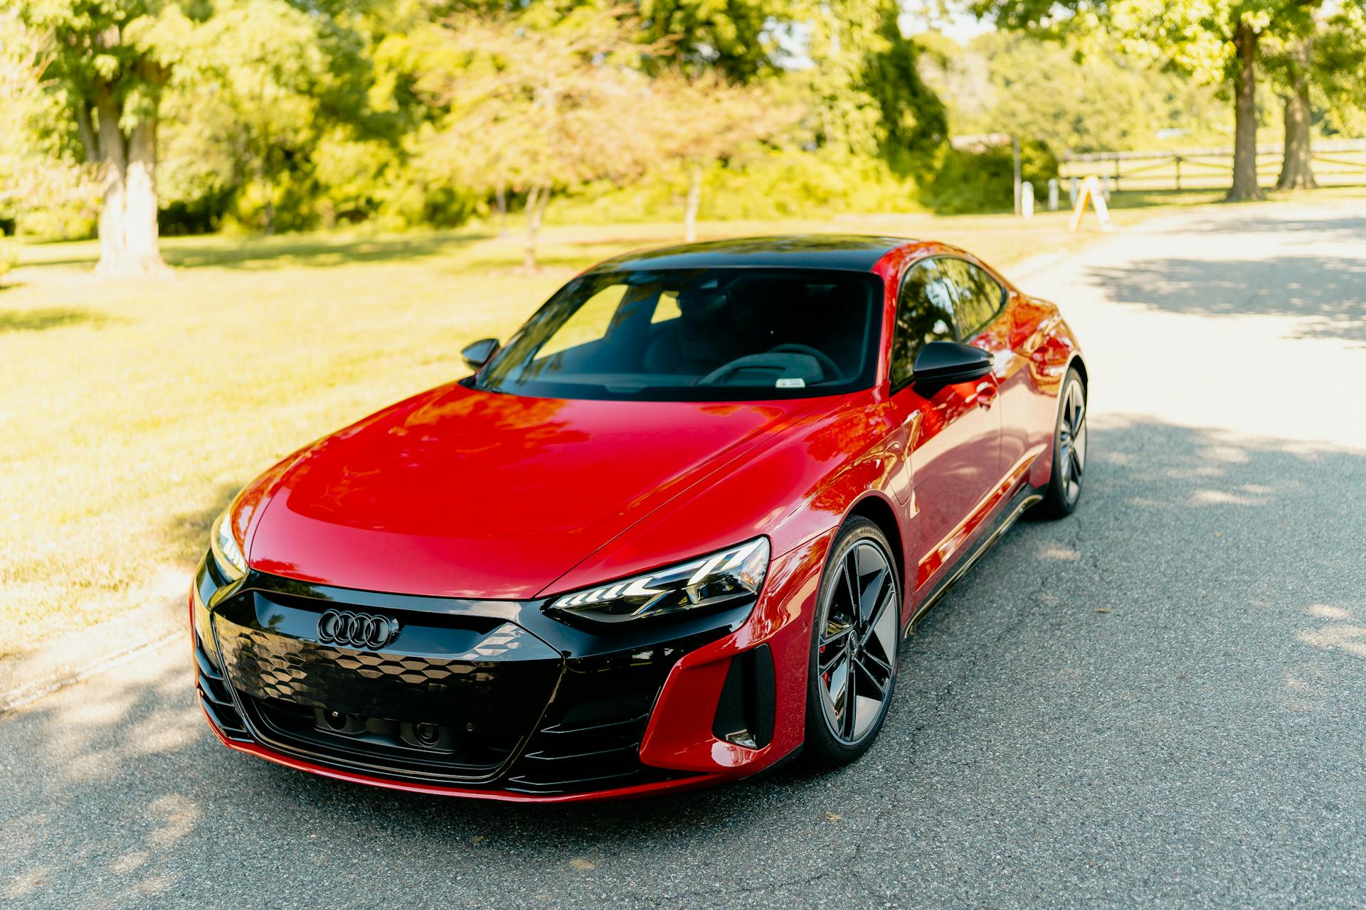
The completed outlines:
<svg viewBox="0 0 1366 910">
<path fill-rule="evenodd" d="M 1182 216 L 1035 271 L 1093 363 L 1081 509 L 907 644 L 881 739 L 605 806 L 220 748 L 184 645 L 0 720 L 23 906 L 1366 906 L 1366 218 Z"/>
</svg>

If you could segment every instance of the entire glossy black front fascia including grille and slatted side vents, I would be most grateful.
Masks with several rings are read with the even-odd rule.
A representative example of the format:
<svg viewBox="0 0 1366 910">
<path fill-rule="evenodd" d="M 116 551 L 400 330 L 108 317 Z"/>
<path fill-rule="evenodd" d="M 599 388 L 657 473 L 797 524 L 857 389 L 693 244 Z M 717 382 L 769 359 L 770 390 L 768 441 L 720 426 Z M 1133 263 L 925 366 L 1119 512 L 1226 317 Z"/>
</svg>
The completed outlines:
<svg viewBox="0 0 1366 910">
<path fill-rule="evenodd" d="M 198 581 L 209 600 L 214 580 Z M 395 780 L 557 795 L 695 776 L 642 764 L 641 742 L 679 658 L 746 611 L 598 633 L 541 606 L 251 573 L 213 603 L 212 626 L 197 613 L 201 697 L 231 739 Z M 382 648 L 325 644 L 328 610 L 377 614 L 398 632 Z"/>
</svg>

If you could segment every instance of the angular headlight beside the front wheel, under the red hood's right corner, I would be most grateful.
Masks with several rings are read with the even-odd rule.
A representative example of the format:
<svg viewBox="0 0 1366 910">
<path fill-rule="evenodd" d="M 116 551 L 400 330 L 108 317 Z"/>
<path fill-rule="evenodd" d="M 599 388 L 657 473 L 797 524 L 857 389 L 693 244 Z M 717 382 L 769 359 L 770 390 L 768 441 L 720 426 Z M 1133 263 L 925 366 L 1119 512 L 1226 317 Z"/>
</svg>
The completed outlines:
<svg viewBox="0 0 1366 910">
<path fill-rule="evenodd" d="M 628 622 L 724 607 L 759 592 L 768 558 L 768 538 L 758 538 L 649 574 L 567 593 L 550 608 L 600 622 Z"/>
</svg>

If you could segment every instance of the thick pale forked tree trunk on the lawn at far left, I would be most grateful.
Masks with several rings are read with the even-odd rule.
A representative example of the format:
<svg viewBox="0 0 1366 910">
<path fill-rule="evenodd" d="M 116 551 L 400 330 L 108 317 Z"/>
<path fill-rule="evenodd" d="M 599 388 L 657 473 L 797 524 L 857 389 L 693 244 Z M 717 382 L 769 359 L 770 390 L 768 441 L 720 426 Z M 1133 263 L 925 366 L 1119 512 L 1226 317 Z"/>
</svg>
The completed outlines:
<svg viewBox="0 0 1366 910">
<path fill-rule="evenodd" d="M 97 138 L 104 180 L 100 209 L 100 262 L 104 276 L 167 271 L 157 236 L 157 121 L 142 120 L 127 136 L 119 128 L 119 104 L 108 86 L 96 87 Z"/>
</svg>

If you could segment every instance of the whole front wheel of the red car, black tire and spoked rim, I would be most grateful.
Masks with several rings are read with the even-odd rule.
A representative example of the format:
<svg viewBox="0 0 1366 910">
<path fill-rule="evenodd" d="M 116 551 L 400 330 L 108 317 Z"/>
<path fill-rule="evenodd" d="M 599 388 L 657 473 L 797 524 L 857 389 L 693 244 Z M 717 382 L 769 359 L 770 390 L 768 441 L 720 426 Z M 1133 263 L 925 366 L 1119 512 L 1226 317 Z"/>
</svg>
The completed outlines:
<svg viewBox="0 0 1366 910">
<path fill-rule="evenodd" d="M 854 565 L 859 568 L 851 573 Z M 863 604 L 856 614 L 851 589 Z M 892 546 L 876 524 L 852 517 L 831 544 L 811 622 L 807 765 L 848 764 L 873 745 L 896 690 L 900 630 L 902 580 Z"/>
</svg>

